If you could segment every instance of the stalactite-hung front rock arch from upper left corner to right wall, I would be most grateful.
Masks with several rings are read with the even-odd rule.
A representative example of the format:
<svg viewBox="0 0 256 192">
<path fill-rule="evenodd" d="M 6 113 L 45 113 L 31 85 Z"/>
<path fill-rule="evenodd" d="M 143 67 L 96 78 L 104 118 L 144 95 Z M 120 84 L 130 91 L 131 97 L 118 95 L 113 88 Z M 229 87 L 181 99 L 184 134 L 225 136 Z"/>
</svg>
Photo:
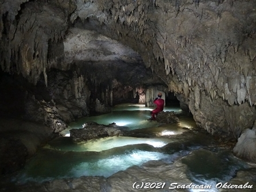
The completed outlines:
<svg viewBox="0 0 256 192">
<path fill-rule="evenodd" d="M 136 50 L 169 91 L 189 99 L 199 126 L 235 138 L 251 128 L 256 118 L 255 1 L 12 2 L 2 0 L 1 6 L 5 72 L 21 73 L 34 84 L 42 73 L 47 85 L 47 69 L 60 68 L 65 57 L 62 48 L 59 54 L 52 48 L 63 44 L 68 22 L 79 18 L 84 27 Z"/>
</svg>

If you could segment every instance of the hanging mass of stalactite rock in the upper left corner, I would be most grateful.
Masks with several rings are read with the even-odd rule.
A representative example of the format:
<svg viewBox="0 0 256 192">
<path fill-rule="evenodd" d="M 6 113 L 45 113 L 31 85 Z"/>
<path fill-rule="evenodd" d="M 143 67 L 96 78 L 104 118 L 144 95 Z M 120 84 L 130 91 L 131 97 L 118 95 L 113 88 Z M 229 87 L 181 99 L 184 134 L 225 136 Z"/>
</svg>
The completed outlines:
<svg viewBox="0 0 256 192">
<path fill-rule="evenodd" d="M 33 83 L 43 72 L 47 83 L 48 42 L 63 38 L 68 15 L 73 10 L 75 4 L 69 0 L 4 1 L 0 25 L 1 68 L 22 73 Z"/>
</svg>

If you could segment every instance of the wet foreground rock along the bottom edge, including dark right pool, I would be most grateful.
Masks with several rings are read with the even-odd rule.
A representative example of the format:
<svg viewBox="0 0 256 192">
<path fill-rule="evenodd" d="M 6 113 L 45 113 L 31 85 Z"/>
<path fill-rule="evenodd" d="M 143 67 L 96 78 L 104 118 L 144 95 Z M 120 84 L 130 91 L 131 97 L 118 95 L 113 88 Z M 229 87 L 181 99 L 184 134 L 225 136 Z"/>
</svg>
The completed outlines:
<svg viewBox="0 0 256 192">
<path fill-rule="evenodd" d="M 119 171 L 111 175 L 108 178 L 104 177 L 80 177 L 80 178 L 67 178 L 57 179 L 53 181 L 43 183 L 26 183 L 25 185 L 12 185 L 2 187 L 2 191 L 107 191 L 107 192 L 125 192 L 125 191 L 149 191 L 150 187 L 144 187 L 146 183 L 154 186 L 158 183 L 160 187 L 152 187 L 150 191 L 190 191 L 188 189 L 170 189 L 169 187 L 184 185 L 188 186 L 192 183 L 195 185 L 197 177 L 201 177 L 202 174 L 208 174 L 208 179 L 216 179 L 220 181 L 221 178 L 214 178 L 220 172 L 232 171 L 231 162 L 238 162 L 239 160 L 232 156 L 227 157 L 227 151 L 210 149 L 199 149 L 189 153 L 182 158 L 176 158 L 174 163 L 166 163 L 159 160 L 151 160 L 147 163 L 143 163 L 141 166 L 132 166 L 124 171 Z M 203 155 L 203 156 L 201 156 Z M 220 160 L 222 159 L 222 160 Z M 173 159 L 174 160 L 174 159 Z M 201 163 L 203 169 L 195 169 L 194 164 Z M 211 162 L 210 164 L 205 162 Z M 238 169 L 238 168 L 235 168 Z M 211 171 L 209 173 L 208 171 Z M 242 171 L 238 171 L 236 175 L 233 175 L 228 181 L 228 185 L 245 185 L 249 182 L 249 185 L 255 185 L 255 168 L 247 168 Z M 220 180 L 219 180 L 220 179 Z M 222 185 L 226 182 L 220 182 Z M 143 185 L 143 186 L 142 186 Z M 172 186 L 170 186 L 172 185 Z M 213 183 L 201 183 L 201 186 L 211 186 L 211 190 L 215 189 L 215 182 Z M 136 188 L 136 186 L 139 186 Z M 141 187 L 142 186 L 142 187 Z M 200 189 L 201 191 L 208 191 Z M 242 189 L 243 191 L 250 191 Z M 241 191 L 241 189 L 215 189 L 215 191 Z"/>
</svg>

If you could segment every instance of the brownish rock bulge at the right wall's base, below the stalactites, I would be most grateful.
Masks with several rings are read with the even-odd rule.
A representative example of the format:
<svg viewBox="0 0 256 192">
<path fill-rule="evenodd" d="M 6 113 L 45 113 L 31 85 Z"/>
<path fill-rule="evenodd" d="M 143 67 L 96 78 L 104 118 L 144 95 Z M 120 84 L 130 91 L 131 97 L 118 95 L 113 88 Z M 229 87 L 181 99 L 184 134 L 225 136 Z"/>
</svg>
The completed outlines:
<svg viewBox="0 0 256 192">
<path fill-rule="evenodd" d="M 220 98 L 211 100 L 200 93 L 200 100 L 189 98 L 189 109 L 197 126 L 224 138 L 238 138 L 242 130 L 253 126 L 255 107 L 250 107 L 249 103 L 231 106 L 225 103 Z"/>
</svg>

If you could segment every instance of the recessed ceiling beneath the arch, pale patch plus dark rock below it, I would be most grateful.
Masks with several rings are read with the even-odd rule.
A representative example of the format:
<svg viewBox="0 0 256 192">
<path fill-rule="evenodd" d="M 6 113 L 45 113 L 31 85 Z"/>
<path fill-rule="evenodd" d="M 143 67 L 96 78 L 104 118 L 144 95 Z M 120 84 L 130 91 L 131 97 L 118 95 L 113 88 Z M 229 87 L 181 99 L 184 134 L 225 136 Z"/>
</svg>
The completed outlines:
<svg viewBox="0 0 256 192">
<path fill-rule="evenodd" d="M 118 81 L 123 86 L 147 87 L 164 85 L 151 69 L 146 68 L 141 56 L 129 46 L 97 32 L 99 22 L 94 18 L 76 21 L 64 38 L 64 57 L 61 68 L 76 65 L 91 81 Z M 166 87 L 166 85 L 165 85 Z"/>
</svg>

